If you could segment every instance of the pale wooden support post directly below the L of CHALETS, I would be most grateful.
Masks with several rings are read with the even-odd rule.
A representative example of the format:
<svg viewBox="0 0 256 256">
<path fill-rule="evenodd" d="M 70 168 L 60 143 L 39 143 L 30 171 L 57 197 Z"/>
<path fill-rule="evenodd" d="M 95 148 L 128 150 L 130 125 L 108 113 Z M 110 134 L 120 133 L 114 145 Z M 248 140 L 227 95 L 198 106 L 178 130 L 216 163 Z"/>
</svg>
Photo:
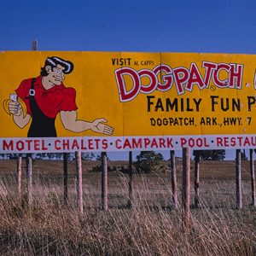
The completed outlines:
<svg viewBox="0 0 256 256">
<path fill-rule="evenodd" d="M 77 184 L 77 207 L 79 213 L 83 213 L 83 178 L 82 178 L 82 156 L 81 152 L 75 153 L 76 159 L 76 184 Z"/>
</svg>

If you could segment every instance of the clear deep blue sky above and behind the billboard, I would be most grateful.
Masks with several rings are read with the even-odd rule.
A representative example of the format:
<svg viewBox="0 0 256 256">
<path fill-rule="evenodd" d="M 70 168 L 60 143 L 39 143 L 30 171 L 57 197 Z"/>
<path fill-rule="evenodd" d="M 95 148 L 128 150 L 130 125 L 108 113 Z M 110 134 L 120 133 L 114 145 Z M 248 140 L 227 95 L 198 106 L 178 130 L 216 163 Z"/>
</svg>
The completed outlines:
<svg viewBox="0 0 256 256">
<path fill-rule="evenodd" d="M 38 40 L 38 50 L 256 53 L 255 0 L 9 0 L 0 7 L 0 50 L 31 50 Z"/>
</svg>

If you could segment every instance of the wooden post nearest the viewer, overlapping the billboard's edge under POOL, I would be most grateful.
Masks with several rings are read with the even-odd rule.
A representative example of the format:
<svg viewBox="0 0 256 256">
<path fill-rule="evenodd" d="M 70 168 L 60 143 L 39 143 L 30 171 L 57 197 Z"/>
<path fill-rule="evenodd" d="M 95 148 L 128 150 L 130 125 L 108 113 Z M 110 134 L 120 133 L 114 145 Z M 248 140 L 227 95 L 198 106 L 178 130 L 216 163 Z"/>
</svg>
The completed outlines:
<svg viewBox="0 0 256 256">
<path fill-rule="evenodd" d="M 183 223 L 189 231 L 190 218 L 190 148 L 183 148 Z"/>
</svg>

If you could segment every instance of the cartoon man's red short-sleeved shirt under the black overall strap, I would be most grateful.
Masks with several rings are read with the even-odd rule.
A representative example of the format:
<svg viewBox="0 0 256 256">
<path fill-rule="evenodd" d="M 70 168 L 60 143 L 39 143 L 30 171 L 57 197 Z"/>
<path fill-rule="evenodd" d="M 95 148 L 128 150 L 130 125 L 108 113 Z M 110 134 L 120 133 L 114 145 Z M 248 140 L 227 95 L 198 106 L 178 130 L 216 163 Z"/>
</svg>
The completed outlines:
<svg viewBox="0 0 256 256">
<path fill-rule="evenodd" d="M 32 79 L 23 80 L 16 91 L 17 96 L 26 103 L 26 112 L 32 115 L 29 106 L 29 90 Z M 39 76 L 34 83 L 35 100 L 41 111 L 49 118 L 55 118 L 60 111 L 75 111 L 78 109 L 75 98 L 76 91 L 64 84 L 55 85 L 45 90 L 42 84 L 42 77 Z"/>
</svg>

